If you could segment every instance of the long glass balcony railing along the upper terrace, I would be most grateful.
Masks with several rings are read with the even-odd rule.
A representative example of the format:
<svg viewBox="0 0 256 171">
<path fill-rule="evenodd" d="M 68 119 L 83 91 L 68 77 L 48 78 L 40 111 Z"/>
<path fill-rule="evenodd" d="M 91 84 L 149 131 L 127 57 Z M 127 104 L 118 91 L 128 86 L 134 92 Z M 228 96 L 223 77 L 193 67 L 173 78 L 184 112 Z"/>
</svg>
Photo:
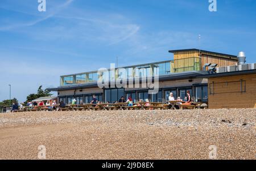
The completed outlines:
<svg viewBox="0 0 256 171">
<path fill-rule="evenodd" d="M 155 75 L 168 75 L 185 71 L 200 71 L 199 57 L 175 59 L 170 61 L 147 63 L 143 65 L 127 66 L 118 69 L 84 72 L 80 74 L 60 76 L 60 86 L 84 84 L 101 80 L 133 79 Z"/>
</svg>

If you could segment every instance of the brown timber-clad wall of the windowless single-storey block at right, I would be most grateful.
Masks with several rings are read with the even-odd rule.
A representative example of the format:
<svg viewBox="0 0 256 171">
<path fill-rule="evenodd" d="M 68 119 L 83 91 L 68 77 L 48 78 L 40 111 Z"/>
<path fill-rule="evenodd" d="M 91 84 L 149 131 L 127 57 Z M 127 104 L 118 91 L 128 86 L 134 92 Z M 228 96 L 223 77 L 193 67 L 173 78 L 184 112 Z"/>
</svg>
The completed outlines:
<svg viewBox="0 0 256 171">
<path fill-rule="evenodd" d="M 254 108 L 256 74 L 208 78 L 210 109 Z"/>
</svg>

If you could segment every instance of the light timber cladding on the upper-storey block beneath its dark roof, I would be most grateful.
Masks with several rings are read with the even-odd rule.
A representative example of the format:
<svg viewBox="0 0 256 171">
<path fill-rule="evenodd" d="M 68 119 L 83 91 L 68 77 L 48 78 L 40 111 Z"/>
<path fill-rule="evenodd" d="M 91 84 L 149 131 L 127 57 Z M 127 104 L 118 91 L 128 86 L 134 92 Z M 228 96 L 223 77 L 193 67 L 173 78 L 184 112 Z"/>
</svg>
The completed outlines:
<svg viewBox="0 0 256 171">
<path fill-rule="evenodd" d="M 175 52 L 174 59 L 184 59 L 191 57 L 200 57 L 198 50 L 188 50 L 184 52 Z M 202 50 L 201 52 L 201 70 L 205 63 L 217 63 L 218 67 L 237 65 L 238 59 L 225 54 L 211 53 Z"/>
</svg>

